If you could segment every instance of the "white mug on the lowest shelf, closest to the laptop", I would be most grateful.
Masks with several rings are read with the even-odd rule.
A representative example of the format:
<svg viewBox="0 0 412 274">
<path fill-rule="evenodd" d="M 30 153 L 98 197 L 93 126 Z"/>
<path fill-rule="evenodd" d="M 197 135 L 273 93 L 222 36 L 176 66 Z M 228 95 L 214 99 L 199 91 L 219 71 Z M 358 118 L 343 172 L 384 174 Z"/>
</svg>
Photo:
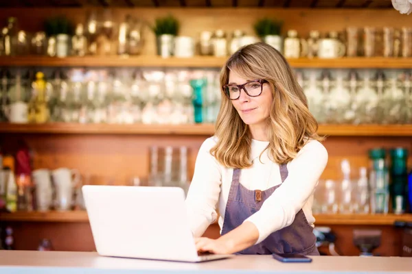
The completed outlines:
<svg viewBox="0 0 412 274">
<path fill-rule="evenodd" d="M 73 204 L 73 188 L 80 182 L 77 169 L 60 168 L 52 171 L 56 186 L 56 210 L 70 210 Z"/>
</svg>

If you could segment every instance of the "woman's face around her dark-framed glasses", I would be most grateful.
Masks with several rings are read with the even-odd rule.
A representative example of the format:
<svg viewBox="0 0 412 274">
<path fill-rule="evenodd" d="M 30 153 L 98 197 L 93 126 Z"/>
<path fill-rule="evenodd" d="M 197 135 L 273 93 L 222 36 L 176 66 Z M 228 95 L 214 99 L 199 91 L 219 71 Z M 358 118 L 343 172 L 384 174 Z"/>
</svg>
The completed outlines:
<svg viewBox="0 0 412 274">
<path fill-rule="evenodd" d="M 230 71 L 229 84 L 241 85 L 255 79 L 243 79 L 237 73 Z M 252 86 L 253 87 L 253 86 Z M 240 90 L 240 97 L 236 100 L 231 100 L 233 107 L 236 108 L 242 121 L 247 125 L 264 125 L 271 111 L 273 95 L 271 86 L 264 83 L 262 93 L 258 97 L 250 97 Z"/>
</svg>

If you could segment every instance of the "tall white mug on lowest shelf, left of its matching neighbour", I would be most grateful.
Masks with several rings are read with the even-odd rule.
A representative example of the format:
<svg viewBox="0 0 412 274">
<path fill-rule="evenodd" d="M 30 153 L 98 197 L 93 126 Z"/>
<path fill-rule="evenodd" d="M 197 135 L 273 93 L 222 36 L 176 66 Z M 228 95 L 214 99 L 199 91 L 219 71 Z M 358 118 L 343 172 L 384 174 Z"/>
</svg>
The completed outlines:
<svg viewBox="0 0 412 274">
<path fill-rule="evenodd" d="M 52 206 L 53 188 L 48 169 L 36 169 L 32 172 L 36 186 L 36 202 L 38 211 L 47 211 Z"/>
</svg>

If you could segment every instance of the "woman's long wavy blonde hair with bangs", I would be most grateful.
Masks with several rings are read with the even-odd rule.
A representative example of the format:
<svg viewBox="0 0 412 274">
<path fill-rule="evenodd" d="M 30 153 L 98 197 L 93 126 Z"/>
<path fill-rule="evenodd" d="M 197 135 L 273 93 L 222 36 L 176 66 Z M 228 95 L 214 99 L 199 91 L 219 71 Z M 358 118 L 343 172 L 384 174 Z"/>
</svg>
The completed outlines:
<svg viewBox="0 0 412 274">
<path fill-rule="evenodd" d="M 288 62 L 273 47 L 258 42 L 233 53 L 220 71 L 222 103 L 215 126 L 218 140 L 210 151 L 220 164 L 234 169 L 252 165 L 249 127 L 222 88 L 228 84 L 230 71 L 244 79 L 265 79 L 271 85 L 273 103 L 267 119 L 269 145 L 266 147 L 271 160 L 278 164 L 287 163 L 308 140 L 323 140 L 317 134 L 317 121 L 308 110 L 304 91 Z"/>
</svg>

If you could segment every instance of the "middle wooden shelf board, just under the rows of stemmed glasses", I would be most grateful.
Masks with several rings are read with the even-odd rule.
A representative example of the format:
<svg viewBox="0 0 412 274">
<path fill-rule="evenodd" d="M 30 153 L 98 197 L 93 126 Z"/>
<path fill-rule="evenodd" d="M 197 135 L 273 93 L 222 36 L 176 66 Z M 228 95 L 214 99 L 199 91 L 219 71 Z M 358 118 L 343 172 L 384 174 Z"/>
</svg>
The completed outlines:
<svg viewBox="0 0 412 274">
<path fill-rule="evenodd" d="M 22 134 L 147 134 L 211 136 L 213 124 L 184 125 L 118 125 L 45 123 L 0 123 L 0 133 Z M 412 136 L 412 125 L 319 125 L 323 136 Z"/>
</svg>

